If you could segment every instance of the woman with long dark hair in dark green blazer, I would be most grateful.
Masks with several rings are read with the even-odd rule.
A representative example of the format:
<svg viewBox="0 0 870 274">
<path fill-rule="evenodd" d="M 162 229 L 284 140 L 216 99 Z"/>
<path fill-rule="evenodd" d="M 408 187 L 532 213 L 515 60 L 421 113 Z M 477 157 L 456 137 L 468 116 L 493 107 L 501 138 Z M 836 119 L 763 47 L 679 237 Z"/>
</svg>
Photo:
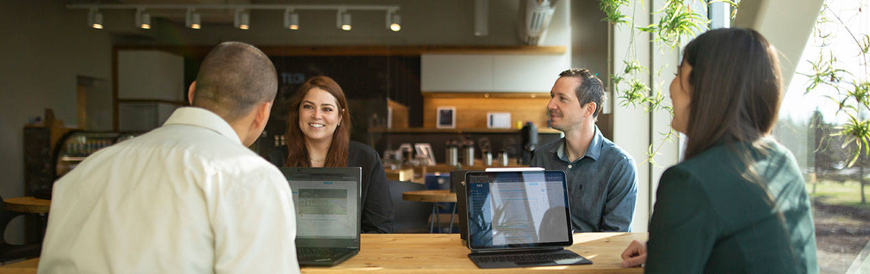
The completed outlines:
<svg viewBox="0 0 870 274">
<path fill-rule="evenodd" d="M 646 244 L 623 266 L 648 273 L 817 273 L 806 186 L 770 137 L 782 99 L 777 51 L 755 30 L 710 30 L 686 45 L 671 83 L 682 162 L 662 174 Z"/>
</svg>

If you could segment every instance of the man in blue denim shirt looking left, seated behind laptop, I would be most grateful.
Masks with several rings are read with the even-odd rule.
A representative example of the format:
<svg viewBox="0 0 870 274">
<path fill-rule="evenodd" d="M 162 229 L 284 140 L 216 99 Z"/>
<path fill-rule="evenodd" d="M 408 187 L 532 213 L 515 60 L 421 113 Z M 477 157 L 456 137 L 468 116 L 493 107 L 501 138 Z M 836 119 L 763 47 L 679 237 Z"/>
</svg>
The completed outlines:
<svg viewBox="0 0 870 274">
<path fill-rule="evenodd" d="M 530 165 L 565 170 L 574 232 L 630 231 L 637 170 L 595 125 L 605 100 L 601 80 L 589 70 L 565 70 L 550 97 L 551 126 L 565 137 L 535 150 Z"/>
</svg>

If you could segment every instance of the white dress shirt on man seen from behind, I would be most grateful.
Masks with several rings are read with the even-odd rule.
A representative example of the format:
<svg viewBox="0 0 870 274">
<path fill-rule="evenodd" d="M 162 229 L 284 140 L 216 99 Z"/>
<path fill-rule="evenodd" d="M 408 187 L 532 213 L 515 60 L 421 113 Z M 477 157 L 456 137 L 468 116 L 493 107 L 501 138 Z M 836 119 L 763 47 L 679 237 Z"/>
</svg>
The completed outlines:
<svg viewBox="0 0 870 274">
<path fill-rule="evenodd" d="M 39 273 L 298 273 L 282 173 L 209 110 L 99 150 L 54 184 Z"/>
</svg>

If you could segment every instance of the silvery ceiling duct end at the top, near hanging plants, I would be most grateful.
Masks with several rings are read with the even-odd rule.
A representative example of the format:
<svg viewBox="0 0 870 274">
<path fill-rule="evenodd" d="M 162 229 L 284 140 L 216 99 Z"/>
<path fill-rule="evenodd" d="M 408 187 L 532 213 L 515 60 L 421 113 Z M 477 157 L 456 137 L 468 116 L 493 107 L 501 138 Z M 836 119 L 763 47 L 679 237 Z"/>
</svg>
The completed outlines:
<svg viewBox="0 0 870 274">
<path fill-rule="evenodd" d="M 558 0 L 519 1 L 519 40 L 527 45 L 539 45 L 550 26 Z"/>
</svg>

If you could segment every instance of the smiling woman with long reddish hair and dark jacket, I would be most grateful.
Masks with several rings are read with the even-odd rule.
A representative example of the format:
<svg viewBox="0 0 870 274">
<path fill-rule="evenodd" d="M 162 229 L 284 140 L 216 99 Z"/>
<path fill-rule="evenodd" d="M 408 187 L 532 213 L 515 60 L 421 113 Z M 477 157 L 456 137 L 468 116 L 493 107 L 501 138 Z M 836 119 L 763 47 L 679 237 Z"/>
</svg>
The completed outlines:
<svg viewBox="0 0 870 274">
<path fill-rule="evenodd" d="M 289 167 L 362 168 L 361 226 L 365 233 L 391 233 L 393 208 L 378 152 L 351 141 L 351 117 L 345 92 L 330 77 L 312 77 L 291 97 L 286 147 L 269 155 L 272 164 Z"/>
</svg>

